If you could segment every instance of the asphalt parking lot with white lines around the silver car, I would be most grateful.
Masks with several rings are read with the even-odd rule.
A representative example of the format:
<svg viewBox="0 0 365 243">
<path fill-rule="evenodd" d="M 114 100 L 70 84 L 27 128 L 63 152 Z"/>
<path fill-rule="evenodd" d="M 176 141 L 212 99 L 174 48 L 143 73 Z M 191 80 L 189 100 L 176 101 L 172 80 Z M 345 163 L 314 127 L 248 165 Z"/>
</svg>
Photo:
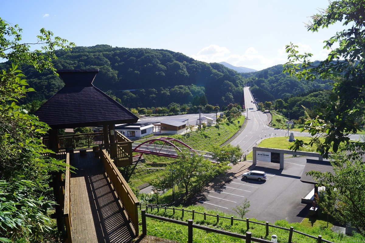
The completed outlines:
<svg viewBox="0 0 365 243">
<path fill-rule="evenodd" d="M 301 198 L 314 187 L 300 181 L 306 158 L 285 158 L 283 170 L 279 169 L 279 164 L 258 161 L 254 170 L 265 171 L 266 181 L 244 180 L 239 176 L 223 186 L 204 192 L 196 204 L 237 215 L 232 208 L 241 205 L 247 198 L 251 206 L 245 217 L 270 223 L 280 219 L 290 223 L 301 222 L 310 207 L 301 204 Z"/>
</svg>

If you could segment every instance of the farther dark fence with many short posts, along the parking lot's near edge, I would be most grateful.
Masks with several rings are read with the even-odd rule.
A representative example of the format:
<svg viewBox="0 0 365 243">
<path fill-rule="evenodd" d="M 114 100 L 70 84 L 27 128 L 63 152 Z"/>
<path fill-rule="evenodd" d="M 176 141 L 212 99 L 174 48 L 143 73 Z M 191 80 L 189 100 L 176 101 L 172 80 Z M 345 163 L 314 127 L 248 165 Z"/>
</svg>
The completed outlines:
<svg viewBox="0 0 365 243">
<path fill-rule="evenodd" d="M 166 210 L 169 209 L 169 210 L 172 210 L 173 212 L 173 215 L 175 214 L 175 211 L 181 211 L 181 217 L 183 218 L 184 217 L 184 212 L 189 212 L 191 213 L 191 220 L 194 220 L 194 217 L 195 217 L 195 214 L 200 214 L 200 215 L 204 215 L 204 220 L 207 220 L 207 216 L 210 216 L 210 217 L 214 217 L 216 219 L 216 222 L 217 224 L 219 223 L 219 219 L 230 219 L 231 220 L 231 226 L 233 226 L 233 223 L 234 221 L 241 221 L 241 222 L 246 222 L 246 228 L 247 228 L 247 231 L 250 229 L 250 223 L 253 223 L 253 224 L 260 224 L 260 225 L 263 225 L 266 227 L 266 235 L 269 235 L 269 227 L 273 227 L 273 228 L 278 228 L 278 229 L 281 229 L 281 230 L 286 230 L 286 231 L 289 231 L 289 239 L 288 239 L 288 243 L 291 243 L 292 242 L 292 237 L 293 237 L 293 233 L 297 233 L 297 234 L 300 234 L 300 235 L 304 235 L 304 236 L 307 236 L 308 238 L 312 238 L 312 239 L 316 239 L 318 243 L 321 243 L 321 242 L 326 242 L 326 243 L 334 243 L 334 242 L 331 242 L 329 240 L 325 240 L 325 239 L 322 239 L 322 235 L 318 235 L 317 236 L 313 236 L 313 235 L 308 235 L 306 233 L 303 233 L 303 232 L 300 232 L 300 231 L 297 231 L 297 230 L 294 230 L 293 227 L 290 227 L 290 228 L 284 228 L 284 227 L 280 227 L 280 226 L 276 226 L 276 225 L 273 225 L 273 224 L 269 224 L 269 222 L 265 222 L 265 223 L 260 223 L 260 222 L 255 222 L 255 221 L 251 221 L 249 220 L 249 218 L 246 218 L 246 219 L 237 219 L 235 218 L 234 216 L 231 216 L 231 217 L 224 217 L 224 216 L 219 216 L 219 214 L 217 215 L 212 215 L 212 214 L 208 214 L 206 212 L 196 212 L 194 210 L 186 210 L 184 208 L 175 208 L 175 207 L 172 207 L 172 208 L 168 208 L 166 206 L 162 206 L 161 205 L 154 205 L 154 204 L 144 204 L 144 206 L 142 204 L 139 204 L 139 208 L 141 210 L 141 212 L 144 210 L 145 212 L 147 212 L 147 210 L 150 208 L 150 211 L 153 211 L 153 209 L 157 209 L 157 212 L 161 210 Z M 145 208 L 145 209 L 142 209 L 142 208 Z M 149 217 L 149 216 L 148 216 Z M 164 218 L 164 217 L 162 217 Z M 165 220 L 167 221 L 167 220 Z M 178 220 L 177 220 L 178 221 Z M 170 221 L 169 221 L 170 222 Z M 180 221 L 179 221 L 180 222 Z M 186 223 L 186 222 L 185 222 Z M 142 215 L 142 224 L 143 224 L 143 215 Z M 195 227 L 197 228 L 197 227 Z M 205 230 L 205 229 L 204 229 Z M 143 231 L 143 226 L 142 226 L 142 231 Z M 225 232 L 225 231 L 222 231 L 222 232 Z M 143 234 L 143 232 L 142 232 Z M 236 237 L 236 236 L 234 236 Z M 246 238 L 242 238 L 242 239 L 246 239 Z M 253 238 L 254 239 L 254 238 Z M 261 240 L 261 239 L 260 239 Z M 261 241 L 254 241 L 252 240 L 253 242 L 261 242 Z M 267 241 L 266 241 L 267 242 Z"/>
</svg>

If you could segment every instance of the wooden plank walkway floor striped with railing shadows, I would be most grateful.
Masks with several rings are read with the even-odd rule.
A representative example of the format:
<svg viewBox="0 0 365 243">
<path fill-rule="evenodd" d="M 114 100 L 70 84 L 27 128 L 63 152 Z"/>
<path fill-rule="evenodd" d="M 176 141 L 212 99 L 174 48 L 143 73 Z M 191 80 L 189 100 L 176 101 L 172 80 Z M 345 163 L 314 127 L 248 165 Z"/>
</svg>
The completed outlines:
<svg viewBox="0 0 365 243">
<path fill-rule="evenodd" d="M 99 157 L 75 151 L 71 165 L 72 242 L 130 242 L 134 232 L 107 179 Z"/>
</svg>

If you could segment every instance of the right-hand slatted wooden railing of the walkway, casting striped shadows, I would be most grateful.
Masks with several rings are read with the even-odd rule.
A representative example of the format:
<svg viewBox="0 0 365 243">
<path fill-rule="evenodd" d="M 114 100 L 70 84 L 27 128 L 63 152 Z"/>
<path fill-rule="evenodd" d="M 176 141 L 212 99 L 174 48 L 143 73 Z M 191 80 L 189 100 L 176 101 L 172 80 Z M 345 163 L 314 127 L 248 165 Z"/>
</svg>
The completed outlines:
<svg viewBox="0 0 365 243">
<path fill-rule="evenodd" d="M 135 235 L 139 234 L 138 229 L 138 205 L 139 201 L 132 192 L 131 188 L 120 174 L 118 168 L 116 168 L 114 162 L 109 157 L 105 149 L 100 151 L 100 160 L 104 165 L 105 171 L 114 186 L 119 199 L 122 201 L 123 208 L 125 209 L 128 221 L 132 223 L 135 231 Z"/>
</svg>

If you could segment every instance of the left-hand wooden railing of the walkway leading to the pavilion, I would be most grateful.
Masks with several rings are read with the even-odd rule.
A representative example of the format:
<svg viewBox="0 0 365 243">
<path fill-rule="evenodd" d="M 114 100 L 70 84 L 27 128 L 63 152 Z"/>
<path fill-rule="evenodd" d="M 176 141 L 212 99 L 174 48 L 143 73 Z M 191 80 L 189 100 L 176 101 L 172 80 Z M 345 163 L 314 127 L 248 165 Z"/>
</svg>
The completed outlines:
<svg viewBox="0 0 365 243">
<path fill-rule="evenodd" d="M 72 242 L 72 224 L 71 224 L 71 175 L 70 175 L 70 153 L 66 154 L 66 173 L 65 173 L 65 201 L 64 201 L 64 218 L 67 232 L 66 243 Z"/>
</svg>

